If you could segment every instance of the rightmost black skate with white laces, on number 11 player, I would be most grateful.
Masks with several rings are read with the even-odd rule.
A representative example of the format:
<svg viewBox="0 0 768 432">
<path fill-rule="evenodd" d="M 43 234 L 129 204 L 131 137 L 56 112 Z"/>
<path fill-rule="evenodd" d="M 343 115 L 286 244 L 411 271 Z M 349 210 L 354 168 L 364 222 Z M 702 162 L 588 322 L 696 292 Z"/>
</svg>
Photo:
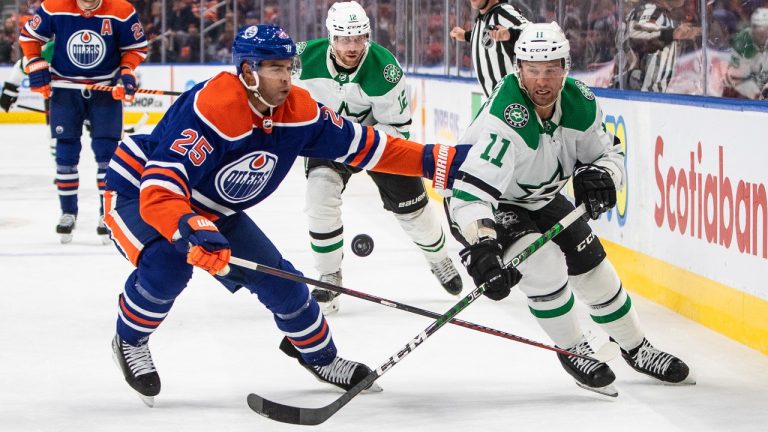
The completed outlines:
<svg viewBox="0 0 768 432">
<path fill-rule="evenodd" d="M 621 356 L 632 369 L 665 384 L 696 384 L 688 365 L 672 354 L 655 348 L 648 339 L 643 338 L 640 345 L 632 350 L 622 349 Z"/>
</svg>

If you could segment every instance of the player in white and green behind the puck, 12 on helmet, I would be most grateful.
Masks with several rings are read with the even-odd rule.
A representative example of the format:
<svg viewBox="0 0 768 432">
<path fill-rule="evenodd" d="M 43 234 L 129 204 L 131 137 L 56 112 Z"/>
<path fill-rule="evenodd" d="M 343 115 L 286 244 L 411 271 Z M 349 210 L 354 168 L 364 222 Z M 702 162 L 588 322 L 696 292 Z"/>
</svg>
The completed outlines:
<svg viewBox="0 0 768 432">
<path fill-rule="evenodd" d="M 298 45 L 302 71 L 299 84 L 318 102 L 346 119 L 393 136 L 407 138 L 411 111 L 403 71 L 386 48 L 370 40 L 370 21 L 355 1 L 334 3 L 326 19 L 328 38 Z M 315 267 L 320 280 L 341 284 L 343 223 L 341 194 L 359 169 L 337 162 L 307 159 L 305 212 Z M 376 183 L 386 210 L 421 249 L 435 277 L 453 295 L 461 292 L 461 277 L 445 248 L 439 218 L 429 208 L 420 178 L 368 173 Z M 312 295 L 326 314 L 338 310 L 337 293 L 315 289 Z"/>
</svg>

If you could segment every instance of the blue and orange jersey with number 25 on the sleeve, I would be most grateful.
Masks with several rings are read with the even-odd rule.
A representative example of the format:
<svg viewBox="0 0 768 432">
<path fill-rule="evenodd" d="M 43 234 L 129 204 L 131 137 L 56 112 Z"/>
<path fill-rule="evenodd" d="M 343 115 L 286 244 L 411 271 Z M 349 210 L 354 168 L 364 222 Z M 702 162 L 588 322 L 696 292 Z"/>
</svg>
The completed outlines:
<svg viewBox="0 0 768 432">
<path fill-rule="evenodd" d="M 142 219 L 173 240 L 191 211 L 216 222 L 258 204 L 301 156 L 421 176 L 423 150 L 344 120 L 298 87 L 264 116 L 223 72 L 185 92 L 152 134 L 126 137 L 106 182 L 123 198 L 140 198 Z"/>
</svg>

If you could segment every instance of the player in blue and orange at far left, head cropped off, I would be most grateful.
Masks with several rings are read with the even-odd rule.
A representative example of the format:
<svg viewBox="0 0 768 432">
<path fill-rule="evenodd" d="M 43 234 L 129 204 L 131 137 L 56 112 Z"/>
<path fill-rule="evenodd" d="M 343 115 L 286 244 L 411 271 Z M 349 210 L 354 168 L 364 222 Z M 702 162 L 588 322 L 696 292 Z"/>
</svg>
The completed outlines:
<svg viewBox="0 0 768 432">
<path fill-rule="evenodd" d="M 51 64 L 41 47 L 55 37 Z M 123 104 L 137 83 L 134 70 L 145 59 L 147 40 L 136 10 L 126 0 L 46 0 L 21 31 L 19 42 L 28 59 L 32 91 L 50 97 L 51 137 L 56 140 L 56 186 L 61 217 L 56 232 L 62 243 L 72 240 L 78 214 L 77 165 L 83 122 L 91 124 L 91 148 L 98 165 L 97 186 L 104 191 L 107 163 L 122 135 Z M 120 84 L 110 95 L 58 88 L 51 80 Z M 103 206 L 99 210 L 103 214 Z M 107 238 L 101 218 L 97 233 Z"/>
</svg>

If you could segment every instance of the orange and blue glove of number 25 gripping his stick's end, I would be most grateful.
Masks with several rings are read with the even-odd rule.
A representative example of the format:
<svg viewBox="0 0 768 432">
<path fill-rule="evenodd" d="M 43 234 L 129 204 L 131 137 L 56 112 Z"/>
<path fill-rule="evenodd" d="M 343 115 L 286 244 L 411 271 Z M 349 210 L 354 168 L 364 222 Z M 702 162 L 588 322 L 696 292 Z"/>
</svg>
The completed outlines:
<svg viewBox="0 0 768 432">
<path fill-rule="evenodd" d="M 232 251 L 229 241 L 221 235 L 216 225 L 197 213 L 187 213 L 179 219 L 181 240 L 176 247 L 187 249 L 187 262 L 215 275 L 227 266 Z"/>
</svg>

